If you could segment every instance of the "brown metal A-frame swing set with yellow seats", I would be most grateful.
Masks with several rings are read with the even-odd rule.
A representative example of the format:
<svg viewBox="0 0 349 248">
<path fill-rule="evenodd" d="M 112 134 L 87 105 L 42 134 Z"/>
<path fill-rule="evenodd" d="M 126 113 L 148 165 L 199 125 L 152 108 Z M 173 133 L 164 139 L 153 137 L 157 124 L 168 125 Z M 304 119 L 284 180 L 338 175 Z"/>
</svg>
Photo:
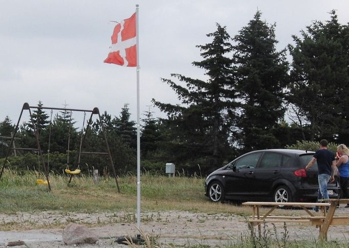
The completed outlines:
<svg viewBox="0 0 349 248">
<path fill-rule="evenodd" d="M 42 151 L 41 151 L 41 148 L 40 148 L 40 142 L 39 142 L 39 134 L 38 134 L 38 132 L 37 132 L 37 130 L 35 128 L 35 123 L 34 123 L 34 120 L 33 120 L 31 109 L 50 109 L 51 110 L 50 127 L 49 127 L 49 143 L 48 143 L 48 162 L 47 162 L 47 167 L 46 167 L 46 164 L 45 164 L 45 160 L 43 159 Z M 16 133 L 18 131 L 20 118 L 21 118 L 24 110 L 28 110 L 29 111 L 30 121 L 31 121 L 33 129 L 34 129 L 34 134 L 35 134 L 35 138 L 36 138 L 37 148 L 12 148 L 12 144 L 14 142 L 15 135 L 16 135 Z M 51 144 L 51 127 L 52 127 L 52 113 L 53 113 L 53 110 L 70 111 L 70 113 L 71 113 L 71 115 L 70 115 L 70 123 L 69 123 L 69 131 L 68 131 L 67 168 L 64 170 L 64 172 L 66 172 L 69 175 L 69 182 L 68 183 L 71 182 L 72 177 L 74 175 L 78 175 L 78 174 L 81 173 L 81 170 L 80 170 L 80 157 L 81 157 L 81 154 L 108 155 L 110 168 L 112 169 L 112 172 L 113 172 L 114 177 L 115 177 L 115 182 L 116 182 L 116 185 L 117 185 L 117 188 L 118 188 L 118 192 L 120 193 L 119 183 L 118 183 L 118 180 L 117 180 L 117 176 L 116 176 L 116 172 L 115 172 L 115 168 L 114 168 L 114 164 L 113 164 L 112 155 L 111 155 L 111 152 L 110 152 L 110 149 L 109 149 L 108 141 L 106 139 L 103 122 L 101 121 L 101 116 L 99 114 L 98 108 L 94 108 L 93 110 L 80 110 L 80 109 L 67 109 L 67 108 L 35 107 L 35 106 L 29 106 L 29 104 L 26 102 L 23 105 L 23 108 L 22 108 L 22 110 L 20 112 L 17 125 L 15 127 L 14 133 L 13 133 L 12 138 L 11 138 L 10 145 L 9 145 L 8 151 L 7 151 L 7 155 L 6 155 L 6 158 L 4 160 L 5 161 L 4 165 L 3 165 L 3 167 L 2 167 L 2 169 L 0 171 L 0 180 L 1 180 L 1 177 L 3 175 L 4 169 L 5 169 L 5 165 L 6 165 L 6 161 L 7 161 L 7 158 L 9 157 L 9 155 L 10 155 L 11 150 L 36 151 L 38 153 L 38 156 L 41 158 L 43 172 L 45 173 L 45 176 L 46 176 L 46 180 L 37 179 L 36 183 L 37 184 L 42 184 L 42 185 L 48 185 L 48 188 L 51 191 L 51 185 L 50 185 L 50 180 L 49 180 L 48 169 L 49 169 L 49 163 L 50 163 L 50 144 Z M 71 125 L 71 120 L 72 120 L 72 113 L 73 113 L 73 111 L 83 112 L 83 122 L 82 122 L 82 129 L 81 129 L 81 138 L 80 138 L 79 152 L 78 152 L 75 164 L 74 164 L 74 166 L 75 166 L 74 168 L 76 168 L 76 169 L 75 170 L 70 170 L 70 168 L 69 168 L 69 149 L 70 149 L 70 138 L 71 138 L 71 126 L 72 126 Z M 86 129 L 84 130 L 84 123 L 85 123 L 86 112 L 90 112 L 91 116 L 90 116 L 90 119 L 89 119 L 88 124 L 86 126 Z M 86 137 L 86 133 L 89 131 L 89 129 L 91 127 L 93 115 L 98 115 L 98 118 L 100 120 L 99 123 L 101 125 L 101 130 L 102 130 L 103 138 L 104 138 L 104 141 L 105 141 L 105 148 L 106 148 L 105 152 L 82 152 L 81 151 L 82 145 L 83 145 L 85 137 Z"/>
</svg>

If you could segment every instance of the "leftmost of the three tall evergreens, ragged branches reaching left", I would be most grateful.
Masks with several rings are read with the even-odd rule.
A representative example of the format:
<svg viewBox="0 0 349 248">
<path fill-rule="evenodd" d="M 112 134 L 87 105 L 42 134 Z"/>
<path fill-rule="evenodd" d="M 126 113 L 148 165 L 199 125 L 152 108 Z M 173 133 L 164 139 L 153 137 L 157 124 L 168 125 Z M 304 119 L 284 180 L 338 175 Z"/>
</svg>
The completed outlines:
<svg viewBox="0 0 349 248">
<path fill-rule="evenodd" d="M 216 31 L 207 34 L 212 43 L 197 46 L 202 51 L 202 61 L 195 67 L 205 70 L 207 80 L 193 79 L 181 74 L 171 74 L 186 87 L 170 79 L 162 79 L 179 96 L 182 105 L 164 104 L 153 99 L 155 106 L 167 113 L 165 126 L 171 132 L 172 153 L 180 162 L 205 159 L 208 167 L 221 166 L 230 158 L 229 137 L 236 118 L 235 91 L 232 81 L 232 46 L 226 27 L 216 24 Z M 197 164 L 195 164 L 195 167 Z"/>
</svg>

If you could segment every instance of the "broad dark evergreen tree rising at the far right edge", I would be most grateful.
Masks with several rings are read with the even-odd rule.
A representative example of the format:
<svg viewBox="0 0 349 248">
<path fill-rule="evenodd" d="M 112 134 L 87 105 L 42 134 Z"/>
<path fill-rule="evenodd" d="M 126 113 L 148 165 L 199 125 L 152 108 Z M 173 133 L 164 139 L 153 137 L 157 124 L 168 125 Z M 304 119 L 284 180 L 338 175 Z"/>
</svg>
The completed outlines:
<svg viewBox="0 0 349 248">
<path fill-rule="evenodd" d="M 306 120 L 310 140 L 349 142 L 349 26 L 335 10 L 326 23 L 313 22 L 293 36 L 290 98 Z M 300 123 L 299 123 L 300 124 Z"/>
</svg>

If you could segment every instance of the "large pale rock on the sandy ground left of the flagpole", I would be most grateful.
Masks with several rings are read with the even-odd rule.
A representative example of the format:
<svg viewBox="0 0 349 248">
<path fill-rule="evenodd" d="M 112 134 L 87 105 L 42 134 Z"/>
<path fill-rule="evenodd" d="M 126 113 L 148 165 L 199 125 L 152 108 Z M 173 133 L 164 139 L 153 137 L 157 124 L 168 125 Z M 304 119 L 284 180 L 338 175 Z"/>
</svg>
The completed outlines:
<svg viewBox="0 0 349 248">
<path fill-rule="evenodd" d="M 83 225 L 70 223 L 63 229 L 63 242 L 66 244 L 96 243 L 98 237 Z"/>
</svg>

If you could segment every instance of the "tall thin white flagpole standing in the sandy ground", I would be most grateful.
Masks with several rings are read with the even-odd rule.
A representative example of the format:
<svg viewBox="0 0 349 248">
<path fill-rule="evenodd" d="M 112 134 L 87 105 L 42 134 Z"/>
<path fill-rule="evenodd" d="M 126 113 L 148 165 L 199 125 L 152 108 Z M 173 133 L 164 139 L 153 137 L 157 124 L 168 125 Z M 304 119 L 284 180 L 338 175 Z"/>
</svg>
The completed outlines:
<svg viewBox="0 0 349 248">
<path fill-rule="evenodd" d="M 138 13 L 139 5 L 136 4 L 136 47 L 137 47 L 137 227 L 141 225 L 141 138 L 139 121 L 139 35 Z"/>
</svg>

